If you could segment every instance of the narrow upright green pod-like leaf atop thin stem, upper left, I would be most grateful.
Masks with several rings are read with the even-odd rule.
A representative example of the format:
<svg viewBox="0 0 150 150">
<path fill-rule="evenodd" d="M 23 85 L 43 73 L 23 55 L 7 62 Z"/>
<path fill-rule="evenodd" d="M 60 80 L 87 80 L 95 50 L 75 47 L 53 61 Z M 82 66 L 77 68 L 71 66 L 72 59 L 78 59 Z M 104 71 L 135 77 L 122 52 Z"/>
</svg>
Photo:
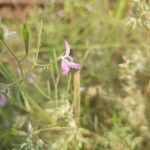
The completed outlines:
<svg viewBox="0 0 150 150">
<path fill-rule="evenodd" d="M 23 25 L 23 38 L 24 38 L 26 54 L 28 54 L 29 52 L 29 37 L 30 37 L 30 32 L 29 32 L 28 26 L 27 24 L 24 24 Z"/>
</svg>

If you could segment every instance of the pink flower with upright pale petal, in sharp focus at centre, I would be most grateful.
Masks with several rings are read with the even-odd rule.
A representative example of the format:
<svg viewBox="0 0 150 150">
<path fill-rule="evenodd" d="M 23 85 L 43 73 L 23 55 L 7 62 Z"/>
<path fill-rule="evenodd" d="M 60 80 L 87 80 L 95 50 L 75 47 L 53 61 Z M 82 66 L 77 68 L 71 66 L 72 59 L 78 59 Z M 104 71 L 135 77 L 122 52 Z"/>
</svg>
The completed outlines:
<svg viewBox="0 0 150 150">
<path fill-rule="evenodd" d="M 81 66 L 75 63 L 73 58 L 70 56 L 70 45 L 65 41 L 66 53 L 61 57 L 61 69 L 63 75 L 67 75 L 71 69 L 80 70 Z"/>
</svg>

